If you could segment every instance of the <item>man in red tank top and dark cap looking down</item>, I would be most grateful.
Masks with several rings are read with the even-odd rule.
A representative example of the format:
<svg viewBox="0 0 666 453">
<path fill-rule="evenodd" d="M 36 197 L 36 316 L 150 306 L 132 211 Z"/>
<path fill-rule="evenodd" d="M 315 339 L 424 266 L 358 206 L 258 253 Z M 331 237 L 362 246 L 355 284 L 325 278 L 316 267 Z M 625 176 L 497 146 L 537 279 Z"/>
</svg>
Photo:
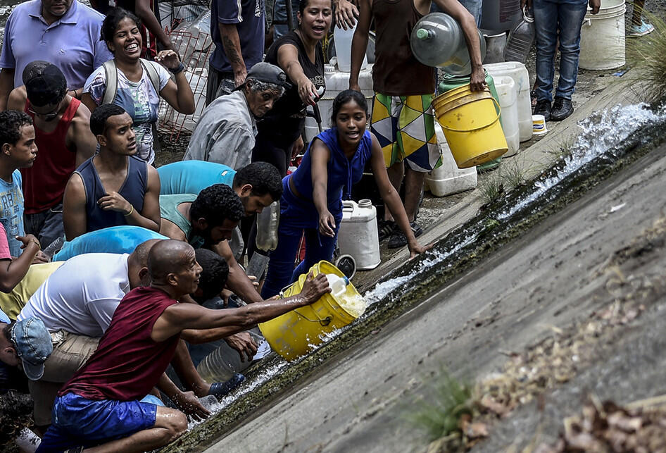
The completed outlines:
<svg viewBox="0 0 666 453">
<path fill-rule="evenodd" d="M 22 86 L 12 90 L 7 107 L 25 111 L 34 123 L 39 159 L 21 168 L 25 230 L 44 247 L 62 237 L 63 194 L 74 170 L 95 152 L 90 111 L 67 94 L 63 72 L 46 61 L 23 70 Z"/>
</svg>

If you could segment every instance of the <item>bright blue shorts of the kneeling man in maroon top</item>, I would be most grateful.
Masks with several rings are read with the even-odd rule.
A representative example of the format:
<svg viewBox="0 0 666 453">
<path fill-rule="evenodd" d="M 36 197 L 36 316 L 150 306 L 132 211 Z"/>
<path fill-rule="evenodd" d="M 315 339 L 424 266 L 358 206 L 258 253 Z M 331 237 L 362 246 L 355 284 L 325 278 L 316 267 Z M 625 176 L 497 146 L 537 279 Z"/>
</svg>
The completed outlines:
<svg viewBox="0 0 666 453">
<path fill-rule="evenodd" d="M 56 398 L 53 424 L 38 452 L 62 452 L 126 438 L 155 426 L 157 406 L 141 401 L 92 400 L 67 393 Z"/>
</svg>

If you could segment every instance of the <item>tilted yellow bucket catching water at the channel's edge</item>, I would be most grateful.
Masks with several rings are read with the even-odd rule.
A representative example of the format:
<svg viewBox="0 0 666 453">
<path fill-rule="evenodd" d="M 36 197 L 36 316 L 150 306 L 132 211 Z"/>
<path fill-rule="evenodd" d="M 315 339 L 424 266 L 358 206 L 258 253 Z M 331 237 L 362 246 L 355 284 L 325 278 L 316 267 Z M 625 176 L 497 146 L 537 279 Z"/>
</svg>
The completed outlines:
<svg viewBox="0 0 666 453">
<path fill-rule="evenodd" d="M 319 273 L 335 274 L 344 277 L 339 269 L 328 261 L 320 261 L 310 268 L 314 275 Z M 308 273 L 310 273 L 308 271 Z M 282 297 L 299 294 L 303 289 L 308 273 L 282 290 Z M 359 295 L 351 283 L 347 285 L 345 297 Z M 322 335 L 344 327 L 356 319 L 337 302 L 335 297 L 324 294 L 317 302 L 299 309 L 291 310 L 282 316 L 259 324 L 261 333 L 270 347 L 287 360 L 307 354 L 314 346 L 322 342 Z"/>
</svg>

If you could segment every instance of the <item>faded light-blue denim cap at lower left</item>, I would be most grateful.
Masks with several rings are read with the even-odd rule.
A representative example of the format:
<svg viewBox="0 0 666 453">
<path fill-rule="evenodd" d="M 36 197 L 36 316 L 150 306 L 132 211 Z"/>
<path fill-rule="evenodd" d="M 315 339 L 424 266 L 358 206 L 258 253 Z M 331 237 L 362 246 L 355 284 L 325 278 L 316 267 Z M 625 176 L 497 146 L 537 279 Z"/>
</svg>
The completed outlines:
<svg viewBox="0 0 666 453">
<path fill-rule="evenodd" d="M 16 321 L 11 328 L 11 341 L 23 362 L 25 376 L 30 380 L 42 378 L 44 361 L 54 350 L 51 335 L 42 320 L 32 316 Z"/>
</svg>

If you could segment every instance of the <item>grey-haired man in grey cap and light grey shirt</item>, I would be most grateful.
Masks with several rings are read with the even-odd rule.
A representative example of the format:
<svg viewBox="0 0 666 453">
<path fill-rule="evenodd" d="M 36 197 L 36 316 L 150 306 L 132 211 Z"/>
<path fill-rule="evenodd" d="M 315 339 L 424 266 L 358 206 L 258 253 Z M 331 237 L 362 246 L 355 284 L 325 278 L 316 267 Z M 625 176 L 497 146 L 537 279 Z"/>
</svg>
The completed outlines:
<svg viewBox="0 0 666 453">
<path fill-rule="evenodd" d="M 249 165 L 256 118 L 263 117 L 287 87 L 287 75 L 277 66 L 252 66 L 243 85 L 203 111 L 183 160 L 223 163 L 234 170 Z"/>
</svg>

